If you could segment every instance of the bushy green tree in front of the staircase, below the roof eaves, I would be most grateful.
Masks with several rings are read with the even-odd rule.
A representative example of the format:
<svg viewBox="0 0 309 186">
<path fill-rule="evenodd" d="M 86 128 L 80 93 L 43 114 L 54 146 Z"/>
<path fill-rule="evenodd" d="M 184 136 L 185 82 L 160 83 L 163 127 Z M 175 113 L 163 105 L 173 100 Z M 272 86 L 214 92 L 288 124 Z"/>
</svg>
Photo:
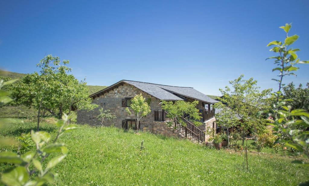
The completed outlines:
<svg viewBox="0 0 309 186">
<path fill-rule="evenodd" d="M 199 122 L 202 118 L 201 113 L 196 108 L 199 102 L 197 100 L 193 102 L 186 101 L 164 101 L 162 100 L 162 109 L 167 112 L 167 117 L 177 120 L 181 125 L 186 125 L 182 118 L 190 120 L 194 125 L 200 126 L 202 125 Z M 172 122 L 168 122 L 168 125 L 172 125 Z"/>
</svg>

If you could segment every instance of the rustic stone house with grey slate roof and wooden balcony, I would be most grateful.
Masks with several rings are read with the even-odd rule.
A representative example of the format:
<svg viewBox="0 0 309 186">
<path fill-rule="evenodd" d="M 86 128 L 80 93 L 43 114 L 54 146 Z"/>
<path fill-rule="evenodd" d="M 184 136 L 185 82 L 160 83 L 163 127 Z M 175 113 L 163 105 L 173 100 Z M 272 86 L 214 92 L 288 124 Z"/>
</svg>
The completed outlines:
<svg viewBox="0 0 309 186">
<path fill-rule="evenodd" d="M 99 107 L 93 111 L 78 111 L 77 122 L 81 124 L 99 125 L 100 121 L 96 118 L 99 114 L 99 108 L 109 109 L 116 119 L 105 122 L 104 125 L 114 125 L 120 128 L 133 128 L 135 124 L 134 114 L 131 116 L 125 111 L 130 105 L 130 99 L 135 95 L 142 94 L 146 101 L 150 103 L 151 112 L 143 117 L 140 121 L 140 128 L 149 130 L 152 133 L 163 134 L 167 136 L 187 137 L 191 140 L 205 141 L 206 127 L 215 128 L 214 110 L 212 104 L 218 101 L 211 99 L 207 95 L 195 90 L 192 87 L 175 87 L 167 85 L 159 85 L 154 83 L 137 82 L 121 80 L 115 84 L 98 91 L 90 97 L 94 104 Z M 198 100 L 197 108 L 203 117 L 201 122 L 203 125 L 196 127 L 190 121 L 186 120 L 187 126 L 169 127 L 166 124 L 167 118 L 165 112 L 161 108 L 161 100 L 166 101 L 194 101 Z"/>
</svg>

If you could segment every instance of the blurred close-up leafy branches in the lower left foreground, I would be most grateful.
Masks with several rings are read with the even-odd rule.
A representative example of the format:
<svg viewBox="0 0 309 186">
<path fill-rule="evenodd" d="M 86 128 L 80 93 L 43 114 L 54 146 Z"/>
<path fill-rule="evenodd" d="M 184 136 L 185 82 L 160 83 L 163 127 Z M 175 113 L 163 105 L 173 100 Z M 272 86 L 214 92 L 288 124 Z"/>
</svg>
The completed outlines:
<svg viewBox="0 0 309 186">
<path fill-rule="evenodd" d="M 0 80 L 0 106 L 14 101 L 14 99 L 8 97 L 9 93 L 2 90 L 2 87 L 15 81 L 16 79 L 7 82 Z M 0 163 L 10 163 L 15 165 L 15 167 L 1 173 L 2 176 L 0 183 L 8 186 L 43 185 L 44 183 L 52 183 L 57 175 L 49 172 L 49 170 L 65 159 L 68 151 L 65 144 L 57 143 L 57 140 L 64 133 L 78 129 L 77 125 L 67 125 L 67 120 L 69 120 L 70 117 L 71 116 L 64 115 L 62 116 L 62 120 L 56 122 L 59 131 L 52 143 L 49 143 L 49 140 L 51 139 L 49 133 L 44 131 L 34 132 L 31 130 L 31 138 L 36 145 L 35 152 L 29 150 L 21 155 L 8 151 L 0 152 Z M 7 140 L 2 139 L 2 141 Z M 44 160 L 50 154 L 59 152 L 61 152 L 61 155 L 55 156 L 51 159 L 43 169 L 42 164 L 46 164 L 46 161 L 44 162 Z"/>
</svg>

